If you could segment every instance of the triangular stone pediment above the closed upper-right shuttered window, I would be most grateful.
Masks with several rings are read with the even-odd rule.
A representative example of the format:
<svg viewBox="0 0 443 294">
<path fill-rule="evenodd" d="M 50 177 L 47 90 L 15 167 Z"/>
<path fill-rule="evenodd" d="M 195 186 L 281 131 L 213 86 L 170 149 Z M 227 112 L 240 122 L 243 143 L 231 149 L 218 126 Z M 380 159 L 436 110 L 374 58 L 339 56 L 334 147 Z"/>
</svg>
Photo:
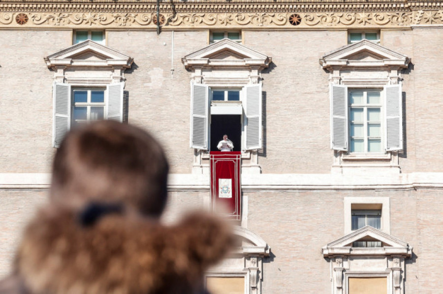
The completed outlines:
<svg viewBox="0 0 443 294">
<path fill-rule="evenodd" d="M 338 67 L 399 67 L 407 68 L 410 59 L 401 53 L 387 49 L 368 40 L 341 47 L 320 58 L 320 65 L 325 69 Z"/>
</svg>

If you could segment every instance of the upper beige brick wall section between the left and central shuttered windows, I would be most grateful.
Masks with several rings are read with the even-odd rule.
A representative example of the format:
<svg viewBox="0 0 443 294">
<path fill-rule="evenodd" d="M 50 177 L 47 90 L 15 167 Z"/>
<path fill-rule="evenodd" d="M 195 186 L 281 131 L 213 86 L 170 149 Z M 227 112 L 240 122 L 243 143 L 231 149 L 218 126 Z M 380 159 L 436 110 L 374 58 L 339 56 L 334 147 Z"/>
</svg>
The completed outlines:
<svg viewBox="0 0 443 294">
<path fill-rule="evenodd" d="M 126 73 L 129 122 L 150 130 L 163 144 L 172 173 L 190 173 L 190 72 L 181 58 L 207 45 L 208 31 L 110 31 L 108 45 L 134 57 Z M 165 44 L 165 45 L 164 45 Z"/>
</svg>

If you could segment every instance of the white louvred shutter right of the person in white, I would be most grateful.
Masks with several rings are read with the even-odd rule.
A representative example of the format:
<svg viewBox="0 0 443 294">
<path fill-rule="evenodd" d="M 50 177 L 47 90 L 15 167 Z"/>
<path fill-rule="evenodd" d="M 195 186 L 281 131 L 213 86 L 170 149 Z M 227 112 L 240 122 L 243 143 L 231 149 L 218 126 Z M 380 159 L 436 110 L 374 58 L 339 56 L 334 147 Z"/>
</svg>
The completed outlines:
<svg viewBox="0 0 443 294">
<path fill-rule="evenodd" d="M 247 85 L 245 113 L 246 113 L 246 150 L 261 148 L 261 84 Z"/>
</svg>

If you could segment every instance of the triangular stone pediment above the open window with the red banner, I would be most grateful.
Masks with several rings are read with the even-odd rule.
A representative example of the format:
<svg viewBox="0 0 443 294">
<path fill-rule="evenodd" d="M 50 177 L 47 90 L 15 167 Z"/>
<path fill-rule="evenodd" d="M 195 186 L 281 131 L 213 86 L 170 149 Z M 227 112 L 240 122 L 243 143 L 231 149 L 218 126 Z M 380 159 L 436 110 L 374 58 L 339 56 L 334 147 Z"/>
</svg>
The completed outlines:
<svg viewBox="0 0 443 294">
<path fill-rule="evenodd" d="M 195 67 L 268 67 L 270 57 L 242 44 L 223 39 L 182 58 L 187 69 Z"/>
</svg>

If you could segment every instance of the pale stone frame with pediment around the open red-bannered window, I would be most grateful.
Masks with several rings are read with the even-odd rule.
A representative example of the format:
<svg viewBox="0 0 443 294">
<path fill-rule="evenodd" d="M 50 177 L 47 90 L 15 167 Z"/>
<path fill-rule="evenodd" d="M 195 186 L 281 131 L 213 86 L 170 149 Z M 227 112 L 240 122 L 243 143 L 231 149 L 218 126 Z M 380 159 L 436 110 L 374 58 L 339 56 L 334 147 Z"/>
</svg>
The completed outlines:
<svg viewBox="0 0 443 294">
<path fill-rule="evenodd" d="M 227 58 L 228 55 L 233 58 Z M 244 90 L 250 86 L 259 86 L 259 92 L 261 93 L 261 70 L 267 68 L 271 61 L 271 57 L 229 39 L 212 43 L 182 58 L 185 68 L 191 72 L 190 147 L 194 148 L 192 173 L 209 174 L 208 146 L 196 147 L 193 146 L 192 142 L 192 93 L 194 85 L 205 85 L 208 87 L 208 91 L 210 88 L 242 88 Z M 245 96 L 244 93 L 241 94 Z M 261 96 L 260 99 L 262 99 Z M 210 101 L 210 99 L 208 100 Z M 242 101 L 242 104 L 243 103 L 244 101 Z M 212 106 L 208 105 L 208 107 L 213 106 L 217 107 L 217 101 L 214 101 Z M 261 103 L 259 104 L 259 108 L 261 109 Z M 243 111 L 243 116 L 245 115 L 247 116 L 248 114 Z M 260 126 L 262 115 L 262 113 L 259 114 Z M 209 119 L 209 114 L 208 116 L 201 116 L 202 119 L 205 117 Z M 209 129 L 209 125 L 207 125 L 206 128 Z M 261 127 L 258 129 L 261 131 Z M 244 138 L 242 137 L 242 141 L 243 140 Z M 242 149 L 246 147 L 245 145 L 242 145 Z M 261 133 L 257 145 L 261 146 Z M 260 148 L 261 147 L 257 146 L 257 148 L 243 150 L 242 159 L 248 162 L 242 162 L 242 172 L 261 172 L 260 166 L 258 165 L 258 149 Z"/>
</svg>

